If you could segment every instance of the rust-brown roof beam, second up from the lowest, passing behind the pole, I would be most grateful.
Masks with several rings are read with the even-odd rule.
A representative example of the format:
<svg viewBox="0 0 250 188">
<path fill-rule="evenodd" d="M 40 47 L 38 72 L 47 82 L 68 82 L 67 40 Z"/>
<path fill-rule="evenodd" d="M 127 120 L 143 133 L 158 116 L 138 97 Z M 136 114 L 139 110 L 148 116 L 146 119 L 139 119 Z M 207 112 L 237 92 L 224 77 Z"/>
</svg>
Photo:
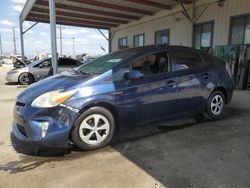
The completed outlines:
<svg viewBox="0 0 250 188">
<path fill-rule="evenodd" d="M 42 18 L 42 19 L 49 19 L 49 15 L 46 14 L 35 14 L 35 13 L 29 13 L 28 16 L 33 18 Z M 96 22 L 96 21 L 89 21 L 89 20 L 83 20 L 83 19 L 75 19 L 75 18 L 67 18 L 62 16 L 56 16 L 56 20 L 58 21 L 65 21 L 65 22 L 72 22 L 72 23 L 85 23 L 89 25 L 105 25 L 107 27 L 116 27 L 117 24 L 107 23 L 107 22 Z"/>
</svg>

